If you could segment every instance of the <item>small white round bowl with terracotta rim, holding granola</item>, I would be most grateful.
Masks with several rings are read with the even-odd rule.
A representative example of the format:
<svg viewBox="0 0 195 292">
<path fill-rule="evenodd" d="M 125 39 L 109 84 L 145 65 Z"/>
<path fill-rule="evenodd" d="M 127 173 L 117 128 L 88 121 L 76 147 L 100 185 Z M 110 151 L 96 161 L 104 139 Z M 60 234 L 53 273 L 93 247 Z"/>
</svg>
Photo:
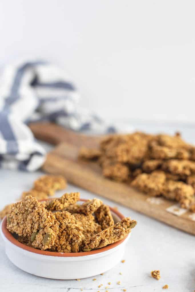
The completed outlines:
<svg viewBox="0 0 195 292">
<path fill-rule="evenodd" d="M 80 201 L 86 201 L 80 199 Z M 115 223 L 124 216 L 111 208 Z M 21 270 L 50 279 L 82 279 L 106 272 L 117 265 L 125 252 L 130 234 L 103 248 L 80 253 L 57 253 L 41 251 L 20 243 L 7 230 L 7 218 L 1 223 L 1 235 L 5 242 L 6 254 L 11 262 Z"/>
</svg>

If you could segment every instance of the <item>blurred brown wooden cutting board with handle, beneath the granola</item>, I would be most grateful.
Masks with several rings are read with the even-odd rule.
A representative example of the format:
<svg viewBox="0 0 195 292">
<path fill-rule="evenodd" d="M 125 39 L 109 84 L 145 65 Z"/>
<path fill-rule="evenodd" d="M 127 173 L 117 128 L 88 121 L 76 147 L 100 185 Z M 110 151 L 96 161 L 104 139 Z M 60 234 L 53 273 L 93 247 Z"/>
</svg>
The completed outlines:
<svg viewBox="0 0 195 292">
<path fill-rule="evenodd" d="M 69 183 L 195 235 L 195 214 L 180 208 L 176 202 L 154 198 L 108 180 L 96 163 L 77 159 L 81 146 L 97 148 L 102 136 L 86 136 L 51 123 L 30 124 L 30 128 L 37 139 L 57 145 L 48 153 L 42 167 L 46 173 L 64 175 Z"/>
</svg>

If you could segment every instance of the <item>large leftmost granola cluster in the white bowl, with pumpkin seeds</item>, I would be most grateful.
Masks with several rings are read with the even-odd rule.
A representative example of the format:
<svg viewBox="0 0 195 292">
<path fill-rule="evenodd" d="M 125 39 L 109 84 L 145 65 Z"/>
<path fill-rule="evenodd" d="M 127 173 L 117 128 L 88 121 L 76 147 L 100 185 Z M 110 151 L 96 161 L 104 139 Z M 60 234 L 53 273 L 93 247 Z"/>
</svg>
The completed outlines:
<svg viewBox="0 0 195 292">
<path fill-rule="evenodd" d="M 11 205 L 7 215 L 7 229 L 29 240 L 33 247 L 51 248 L 58 234 L 59 223 L 44 204 L 31 196 Z"/>
</svg>

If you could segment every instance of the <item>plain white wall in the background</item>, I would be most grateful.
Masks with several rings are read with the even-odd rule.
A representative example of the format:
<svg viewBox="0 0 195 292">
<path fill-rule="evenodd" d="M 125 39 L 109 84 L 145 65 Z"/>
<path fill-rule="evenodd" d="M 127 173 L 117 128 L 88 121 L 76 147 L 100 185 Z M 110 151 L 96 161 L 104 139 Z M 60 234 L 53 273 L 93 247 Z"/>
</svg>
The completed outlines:
<svg viewBox="0 0 195 292">
<path fill-rule="evenodd" d="M 66 67 L 102 117 L 195 123 L 195 2 L 1 0 L 0 65 Z"/>
</svg>

